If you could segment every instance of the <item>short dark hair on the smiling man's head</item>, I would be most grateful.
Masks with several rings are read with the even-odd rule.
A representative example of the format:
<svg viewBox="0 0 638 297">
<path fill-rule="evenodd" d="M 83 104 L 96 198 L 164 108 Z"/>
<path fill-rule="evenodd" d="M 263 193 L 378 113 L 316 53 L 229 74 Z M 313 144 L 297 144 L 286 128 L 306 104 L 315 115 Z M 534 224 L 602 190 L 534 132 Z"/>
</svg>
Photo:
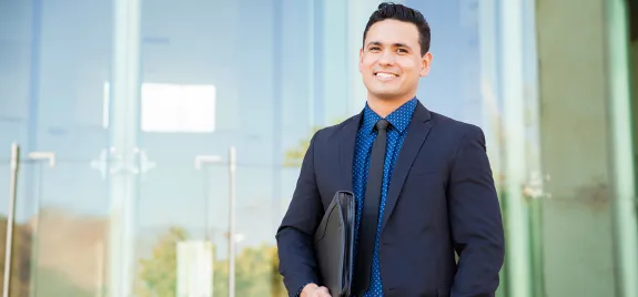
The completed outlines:
<svg viewBox="0 0 638 297">
<path fill-rule="evenodd" d="M 376 22 L 385 21 L 388 19 L 414 23 L 418 30 L 421 55 L 424 55 L 429 51 L 429 24 L 425 20 L 425 17 L 423 17 L 423 14 L 416 9 L 412 9 L 403 4 L 395 4 L 392 2 L 383 2 L 378 4 L 377 10 L 373 12 L 372 16 L 369 16 L 369 20 L 367 21 L 365 30 L 363 31 L 364 47 L 365 37 L 367 35 L 369 28 Z"/>
</svg>

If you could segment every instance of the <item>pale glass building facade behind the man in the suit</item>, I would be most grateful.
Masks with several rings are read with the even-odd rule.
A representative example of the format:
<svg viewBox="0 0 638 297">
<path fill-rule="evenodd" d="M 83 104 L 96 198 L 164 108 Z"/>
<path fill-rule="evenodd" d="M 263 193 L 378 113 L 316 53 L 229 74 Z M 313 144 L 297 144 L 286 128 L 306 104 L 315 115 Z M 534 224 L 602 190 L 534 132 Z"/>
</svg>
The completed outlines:
<svg viewBox="0 0 638 297">
<path fill-rule="evenodd" d="M 274 235 L 379 2 L 0 1 L 3 297 L 286 296 Z M 486 133 L 498 295 L 638 296 L 635 8 L 396 2 L 432 27 L 418 99 Z"/>
</svg>

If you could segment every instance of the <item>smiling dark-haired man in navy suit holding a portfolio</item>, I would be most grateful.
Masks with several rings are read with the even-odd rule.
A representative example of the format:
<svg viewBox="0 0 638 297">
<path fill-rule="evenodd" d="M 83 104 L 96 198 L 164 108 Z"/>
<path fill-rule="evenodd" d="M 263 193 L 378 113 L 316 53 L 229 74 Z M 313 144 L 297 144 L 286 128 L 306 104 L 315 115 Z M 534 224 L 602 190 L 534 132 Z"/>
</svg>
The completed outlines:
<svg viewBox="0 0 638 297">
<path fill-rule="evenodd" d="M 415 98 L 429 37 L 423 14 L 401 4 L 369 18 L 359 51 L 367 103 L 314 134 L 277 231 L 291 296 L 331 296 L 313 235 L 336 191 L 357 199 L 355 296 L 495 295 L 505 248 L 485 137 Z"/>
</svg>

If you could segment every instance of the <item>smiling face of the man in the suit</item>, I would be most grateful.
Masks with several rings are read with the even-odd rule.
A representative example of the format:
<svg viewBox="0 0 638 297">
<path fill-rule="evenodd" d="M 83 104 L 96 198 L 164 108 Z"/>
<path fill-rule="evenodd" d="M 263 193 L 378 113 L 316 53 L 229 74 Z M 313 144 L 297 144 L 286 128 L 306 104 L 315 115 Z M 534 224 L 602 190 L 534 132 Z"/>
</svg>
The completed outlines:
<svg viewBox="0 0 638 297">
<path fill-rule="evenodd" d="M 432 54 L 421 55 L 415 24 L 384 20 L 373 24 L 359 52 L 359 72 L 368 95 L 379 100 L 406 100 L 416 94 L 418 80 L 427 75 Z"/>
</svg>

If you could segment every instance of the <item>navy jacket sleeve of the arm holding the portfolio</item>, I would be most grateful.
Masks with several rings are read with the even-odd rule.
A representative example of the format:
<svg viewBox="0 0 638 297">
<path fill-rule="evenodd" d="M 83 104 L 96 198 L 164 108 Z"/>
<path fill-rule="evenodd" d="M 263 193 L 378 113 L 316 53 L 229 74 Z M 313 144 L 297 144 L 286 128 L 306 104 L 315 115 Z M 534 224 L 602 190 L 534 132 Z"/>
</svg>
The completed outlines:
<svg viewBox="0 0 638 297">
<path fill-rule="evenodd" d="M 293 198 L 275 236 L 280 273 L 290 296 L 298 296 L 305 285 L 320 281 L 313 248 L 314 232 L 323 215 L 314 168 L 315 140 L 320 132 L 310 142 Z"/>
</svg>

